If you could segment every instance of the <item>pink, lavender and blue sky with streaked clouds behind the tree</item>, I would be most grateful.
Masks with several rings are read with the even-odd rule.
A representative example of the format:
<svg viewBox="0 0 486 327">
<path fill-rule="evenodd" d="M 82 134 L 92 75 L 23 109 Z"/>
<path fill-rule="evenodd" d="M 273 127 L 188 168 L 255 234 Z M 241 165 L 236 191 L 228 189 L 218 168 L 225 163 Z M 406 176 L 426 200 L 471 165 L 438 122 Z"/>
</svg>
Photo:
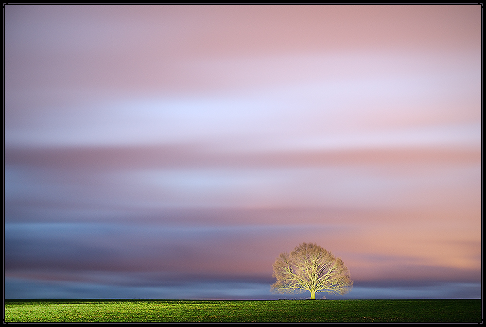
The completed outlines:
<svg viewBox="0 0 486 327">
<path fill-rule="evenodd" d="M 481 5 L 4 5 L 5 298 L 481 298 Z"/>
</svg>

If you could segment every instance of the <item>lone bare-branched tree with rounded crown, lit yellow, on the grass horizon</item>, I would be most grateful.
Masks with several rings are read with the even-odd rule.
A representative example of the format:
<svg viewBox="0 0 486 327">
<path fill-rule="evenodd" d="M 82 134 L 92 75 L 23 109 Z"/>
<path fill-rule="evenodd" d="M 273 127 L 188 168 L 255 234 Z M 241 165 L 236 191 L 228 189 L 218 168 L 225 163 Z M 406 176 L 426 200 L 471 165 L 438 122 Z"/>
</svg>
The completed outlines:
<svg viewBox="0 0 486 327">
<path fill-rule="evenodd" d="M 341 258 L 313 243 L 302 243 L 289 255 L 282 253 L 273 265 L 277 293 L 316 292 L 344 295 L 351 291 L 353 281 Z"/>
</svg>

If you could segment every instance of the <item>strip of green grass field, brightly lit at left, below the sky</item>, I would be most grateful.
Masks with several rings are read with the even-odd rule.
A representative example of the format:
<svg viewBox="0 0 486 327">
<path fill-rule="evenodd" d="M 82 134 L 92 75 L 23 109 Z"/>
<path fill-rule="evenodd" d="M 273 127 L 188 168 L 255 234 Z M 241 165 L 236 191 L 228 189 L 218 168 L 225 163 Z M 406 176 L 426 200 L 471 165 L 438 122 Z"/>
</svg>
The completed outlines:
<svg viewBox="0 0 486 327">
<path fill-rule="evenodd" d="M 481 323 L 472 300 L 5 300 L 5 322 Z"/>
</svg>

